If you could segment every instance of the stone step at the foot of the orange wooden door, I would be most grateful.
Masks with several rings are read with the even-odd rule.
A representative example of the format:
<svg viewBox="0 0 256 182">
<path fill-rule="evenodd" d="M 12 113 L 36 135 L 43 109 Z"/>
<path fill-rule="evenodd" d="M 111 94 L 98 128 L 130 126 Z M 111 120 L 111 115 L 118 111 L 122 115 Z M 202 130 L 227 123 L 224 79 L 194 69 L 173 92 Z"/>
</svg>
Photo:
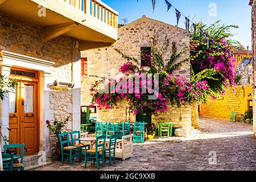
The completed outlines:
<svg viewBox="0 0 256 182">
<path fill-rule="evenodd" d="M 25 170 L 46 166 L 51 163 L 52 163 L 51 158 L 44 159 L 42 155 L 38 155 L 38 154 L 25 155 L 23 159 Z"/>
</svg>

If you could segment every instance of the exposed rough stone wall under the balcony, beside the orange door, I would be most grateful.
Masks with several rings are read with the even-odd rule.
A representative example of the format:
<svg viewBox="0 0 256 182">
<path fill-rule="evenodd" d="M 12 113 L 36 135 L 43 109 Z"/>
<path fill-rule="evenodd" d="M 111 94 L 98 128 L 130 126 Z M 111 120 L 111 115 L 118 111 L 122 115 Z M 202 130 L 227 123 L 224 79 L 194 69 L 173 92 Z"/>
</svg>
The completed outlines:
<svg viewBox="0 0 256 182">
<path fill-rule="evenodd" d="M 73 81 L 73 64 L 79 62 L 80 65 L 80 52 L 75 48 L 75 40 L 73 38 L 58 36 L 49 40 L 49 42 L 44 42 L 42 27 L 1 13 L 0 17 L 0 51 L 5 50 L 54 62 L 55 64 L 51 68 L 51 82 L 48 84 L 54 80 Z M 24 65 L 24 68 L 26 68 L 26 65 Z M 80 75 L 80 70 L 75 73 Z M 80 85 L 76 86 L 80 87 Z M 51 110 L 49 118 L 44 118 L 44 120 L 60 121 L 67 115 L 71 115 L 71 122 L 68 123 L 66 129 L 72 130 L 73 99 L 73 90 L 50 86 L 49 105 Z M 76 110 L 80 112 L 79 108 Z M 80 119 L 75 122 L 80 122 Z"/>
</svg>

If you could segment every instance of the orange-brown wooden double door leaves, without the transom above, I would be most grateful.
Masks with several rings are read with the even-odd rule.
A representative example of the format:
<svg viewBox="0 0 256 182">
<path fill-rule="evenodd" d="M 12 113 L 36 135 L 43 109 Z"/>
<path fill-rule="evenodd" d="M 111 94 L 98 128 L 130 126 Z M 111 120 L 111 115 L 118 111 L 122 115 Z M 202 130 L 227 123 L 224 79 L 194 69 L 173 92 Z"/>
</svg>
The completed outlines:
<svg viewBox="0 0 256 182">
<path fill-rule="evenodd" d="M 15 96 L 16 110 L 14 104 L 9 104 L 9 139 L 11 143 L 24 143 L 25 154 L 34 154 L 38 152 L 38 83 L 19 81 Z M 10 99 L 9 103 L 14 102 L 14 98 Z"/>
</svg>

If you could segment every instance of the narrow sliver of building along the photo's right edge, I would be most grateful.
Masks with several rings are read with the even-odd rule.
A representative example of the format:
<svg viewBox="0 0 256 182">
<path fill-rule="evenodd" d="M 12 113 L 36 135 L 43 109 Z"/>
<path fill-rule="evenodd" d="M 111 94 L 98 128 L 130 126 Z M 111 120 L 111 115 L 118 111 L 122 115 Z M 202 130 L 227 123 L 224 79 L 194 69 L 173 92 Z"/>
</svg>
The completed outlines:
<svg viewBox="0 0 256 182">
<path fill-rule="evenodd" d="M 250 0 L 250 6 L 251 6 L 251 38 L 252 38 L 252 50 L 253 50 L 253 75 L 254 75 L 254 92 L 253 92 L 253 131 L 254 135 L 256 136 L 256 92 L 255 92 L 255 86 L 256 86 L 256 0 Z"/>
</svg>

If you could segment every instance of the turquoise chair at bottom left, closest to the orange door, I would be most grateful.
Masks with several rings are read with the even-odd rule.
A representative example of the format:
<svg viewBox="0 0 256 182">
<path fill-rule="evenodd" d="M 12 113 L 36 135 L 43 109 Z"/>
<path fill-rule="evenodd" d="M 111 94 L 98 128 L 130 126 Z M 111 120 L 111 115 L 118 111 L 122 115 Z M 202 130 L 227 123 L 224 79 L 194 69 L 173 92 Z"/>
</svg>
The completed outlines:
<svg viewBox="0 0 256 182">
<path fill-rule="evenodd" d="M 20 163 L 13 164 L 13 171 L 24 171 L 24 164 L 23 164 L 23 158 L 24 158 L 24 148 L 25 144 L 19 144 L 19 143 L 13 143 L 13 144 L 5 144 L 3 146 L 4 153 L 7 154 L 8 148 L 19 148 L 20 154 L 14 155 L 15 157 L 18 157 L 20 159 Z"/>
</svg>

